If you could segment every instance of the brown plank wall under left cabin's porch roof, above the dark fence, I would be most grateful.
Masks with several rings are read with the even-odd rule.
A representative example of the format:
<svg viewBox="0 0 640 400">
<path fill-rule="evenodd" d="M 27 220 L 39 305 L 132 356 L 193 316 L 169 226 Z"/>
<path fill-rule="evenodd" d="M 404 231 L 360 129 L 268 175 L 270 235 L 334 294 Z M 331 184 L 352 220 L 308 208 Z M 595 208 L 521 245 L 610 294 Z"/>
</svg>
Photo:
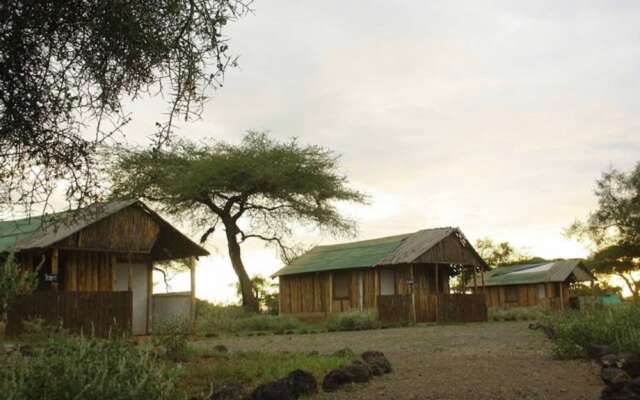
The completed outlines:
<svg viewBox="0 0 640 400">
<path fill-rule="evenodd" d="M 111 257 L 103 252 L 61 251 L 60 273 L 66 292 L 113 290 Z"/>
</svg>

